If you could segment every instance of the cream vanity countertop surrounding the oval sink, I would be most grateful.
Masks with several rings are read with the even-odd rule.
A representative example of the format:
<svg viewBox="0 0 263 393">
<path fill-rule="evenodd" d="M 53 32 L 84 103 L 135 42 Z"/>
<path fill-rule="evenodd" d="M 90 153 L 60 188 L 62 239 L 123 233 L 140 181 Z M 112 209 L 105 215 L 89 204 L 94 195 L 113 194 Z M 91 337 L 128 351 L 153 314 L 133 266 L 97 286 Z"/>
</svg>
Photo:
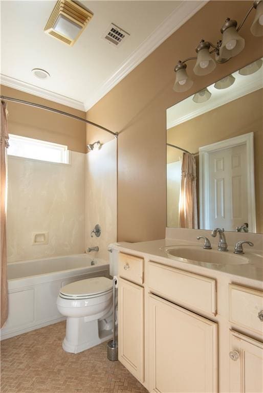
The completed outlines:
<svg viewBox="0 0 263 393">
<path fill-rule="evenodd" d="M 242 254 L 241 256 L 245 256 L 249 258 L 250 263 L 244 264 L 244 265 L 227 265 L 227 264 L 212 264 L 212 263 L 203 263 L 200 261 L 194 261 L 194 260 L 188 260 L 184 259 L 181 257 L 176 257 L 176 256 L 169 256 L 166 252 L 167 248 L 172 248 L 172 246 L 195 246 L 199 247 L 202 249 L 202 245 L 200 243 L 194 243 L 194 242 L 189 242 L 185 241 L 182 239 L 160 239 L 160 240 L 154 240 L 154 241 L 149 241 L 149 242 L 140 242 L 140 243 L 115 243 L 113 245 L 113 248 L 119 250 L 119 251 L 125 251 L 125 252 L 132 252 L 132 253 L 142 253 L 142 254 L 147 254 L 147 256 L 154 258 L 154 257 L 161 257 L 161 258 L 166 258 L 170 263 L 171 260 L 180 262 L 181 264 L 185 264 L 187 266 L 193 265 L 193 266 L 200 266 L 203 270 L 209 269 L 209 270 L 214 270 L 217 272 L 222 272 L 226 274 L 230 274 L 232 276 L 239 276 L 239 277 L 245 277 L 249 278 L 252 280 L 256 280 L 259 282 L 263 282 L 263 254 L 262 251 L 258 250 L 253 250 L 250 251 L 248 250 L 248 246 L 244 246 L 244 251 L 245 254 Z M 234 249 L 233 247 L 228 247 L 229 251 L 226 252 L 226 254 L 231 254 L 233 253 Z M 205 252 L 210 252 L 211 250 L 204 250 Z M 212 251 L 216 251 L 220 253 L 224 257 L 224 251 L 217 251 L 217 247 L 215 245 L 212 245 Z"/>
</svg>

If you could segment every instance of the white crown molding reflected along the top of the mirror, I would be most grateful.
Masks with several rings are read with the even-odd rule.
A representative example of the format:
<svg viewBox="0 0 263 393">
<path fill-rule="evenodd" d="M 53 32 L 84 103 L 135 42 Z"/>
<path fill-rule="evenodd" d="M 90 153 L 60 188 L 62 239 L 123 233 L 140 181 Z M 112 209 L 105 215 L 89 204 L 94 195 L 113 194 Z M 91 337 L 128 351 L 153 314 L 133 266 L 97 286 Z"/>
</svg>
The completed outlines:
<svg viewBox="0 0 263 393">
<path fill-rule="evenodd" d="M 208 90 L 211 86 L 208 86 Z M 225 89 L 223 89 L 223 90 L 221 90 L 222 95 L 217 96 L 213 100 L 206 101 L 206 105 L 203 105 L 202 107 L 197 108 L 196 111 L 189 111 L 187 113 L 187 115 L 177 117 L 173 121 L 167 122 L 167 129 L 175 127 L 176 125 L 184 123 L 188 120 L 191 120 L 194 117 L 203 115 L 204 113 L 212 111 L 213 109 L 215 109 L 219 106 L 225 105 L 231 101 L 236 100 L 237 98 L 241 98 L 243 96 L 246 96 L 247 94 L 253 93 L 256 90 L 259 90 L 262 88 L 263 88 L 263 80 L 261 79 L 261 74 L 259 74 L 258 78 L 252 79 L 248 83 L 242 83 L 240 85 L 237 85 L 235 89 L 227 92 L 227 94 L 226 94 Z M 186 99 L 191 100 L 192 97 L 193 97 L 193 95 L 186 98 Z M 213 93 L 212 93 L 211 98 L 213 98 Z M 181 101 L 181 102 L 183 102 L 183 101 Z"/>
</svg>

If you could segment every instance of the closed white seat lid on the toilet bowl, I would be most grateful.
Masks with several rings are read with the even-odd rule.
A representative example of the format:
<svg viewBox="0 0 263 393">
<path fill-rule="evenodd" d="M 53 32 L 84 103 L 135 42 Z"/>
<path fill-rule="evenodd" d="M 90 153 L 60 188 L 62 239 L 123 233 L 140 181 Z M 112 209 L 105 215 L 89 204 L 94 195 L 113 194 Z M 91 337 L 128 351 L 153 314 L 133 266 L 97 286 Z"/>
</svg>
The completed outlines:
<svg viewBox="0 0 263 393">
<path fill-rule="evenodd" d="M 60 289 L 60 293 L 73 296 L 96 295 L 109 291 L 112 288 L 113 280 L 106 277 L 93 277 L 65 285 Z"/>
</svg>

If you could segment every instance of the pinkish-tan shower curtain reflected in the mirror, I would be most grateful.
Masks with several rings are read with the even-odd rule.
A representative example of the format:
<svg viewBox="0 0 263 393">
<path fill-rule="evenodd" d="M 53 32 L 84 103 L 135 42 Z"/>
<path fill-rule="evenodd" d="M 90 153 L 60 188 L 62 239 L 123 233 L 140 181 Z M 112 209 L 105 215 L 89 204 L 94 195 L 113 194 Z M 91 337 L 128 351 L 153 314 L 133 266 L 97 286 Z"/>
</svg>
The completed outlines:
<svg viewBox="0 0 263 393">
<path fill-rule="evenodd" d="M 195 158 L 183 154 L 181 192 L 179 202 L 180 228 L 198 229 L 196 201 L 196 164 Z"/>
</svg>

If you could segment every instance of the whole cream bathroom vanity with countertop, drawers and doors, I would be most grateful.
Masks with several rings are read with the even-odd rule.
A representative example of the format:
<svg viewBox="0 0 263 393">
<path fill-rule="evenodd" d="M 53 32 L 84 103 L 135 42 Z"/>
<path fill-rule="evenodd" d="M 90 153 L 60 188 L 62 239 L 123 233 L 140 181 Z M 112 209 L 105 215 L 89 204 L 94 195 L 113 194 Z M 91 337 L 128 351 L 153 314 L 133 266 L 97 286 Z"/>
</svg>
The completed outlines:
<svg viewBox="0 0 263 393">
<path fill-rule="evenodd" d="M 262 253 L 202 246 L 182 238 L 116 246 L 119 360 L 150 392 L 261 393 Z"/>
</svg>

